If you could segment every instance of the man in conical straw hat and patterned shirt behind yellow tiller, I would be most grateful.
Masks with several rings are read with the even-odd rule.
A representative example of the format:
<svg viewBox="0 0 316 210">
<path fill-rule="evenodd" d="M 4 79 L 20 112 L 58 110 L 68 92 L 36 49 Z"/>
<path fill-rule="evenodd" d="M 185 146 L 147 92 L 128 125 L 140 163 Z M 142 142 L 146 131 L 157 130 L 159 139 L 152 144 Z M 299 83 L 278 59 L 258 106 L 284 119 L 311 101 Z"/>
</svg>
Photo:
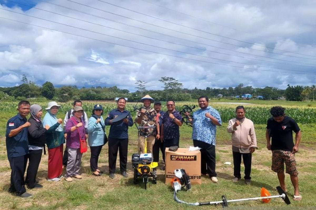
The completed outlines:
<svg viewBox="0 0 316 210">
<path fill-rule="evenodd" d="M 140 111 L 137 110 L 137 115 L 135 122 L 140 124 L 140 126 L 157 126 L 156 132 L 152 132 L 153 128 L 149 129 L 140 129 L 143 133 L 148 134 L 147 136 L 147 153 L 152 153 L 153 145 L 155 144 L 155 138 L 160 139 L 160 129 L 159 123 L 156 122 L 157 112 L 155 109 L 150 107 L 151 103 L 154 103 L 155 100 L 149 95 L 145 95 L 140 102 L 143 102 L 143 106 Z M 151 135 L 149 135 L 151 134 Z M 144 136 L 138 133 L 138 152 L 144 153 Z"/>
</svg>

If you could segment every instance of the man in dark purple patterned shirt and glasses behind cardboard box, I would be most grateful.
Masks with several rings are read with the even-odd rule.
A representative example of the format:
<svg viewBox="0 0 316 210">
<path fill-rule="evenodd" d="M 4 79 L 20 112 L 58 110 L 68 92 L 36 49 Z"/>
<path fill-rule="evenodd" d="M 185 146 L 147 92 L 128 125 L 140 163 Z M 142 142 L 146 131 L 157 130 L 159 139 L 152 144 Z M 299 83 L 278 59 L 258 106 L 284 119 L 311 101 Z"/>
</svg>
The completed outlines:
<svg viewBox="0 0 316 210">
<path fill-rule="evenodd" d="M 167 109 L 162 116 L 161 125 L 161 141 L 164 141 L 164 151 L 166 152 L 166 147 L 179 146 L 179 126 L 182 125 L 182 117 L 179 111 L 175 110 L 175 103 L 173 100 L 167 101 Z M 162 168 L 164 170 L 164 168 Z"/>
</svg>

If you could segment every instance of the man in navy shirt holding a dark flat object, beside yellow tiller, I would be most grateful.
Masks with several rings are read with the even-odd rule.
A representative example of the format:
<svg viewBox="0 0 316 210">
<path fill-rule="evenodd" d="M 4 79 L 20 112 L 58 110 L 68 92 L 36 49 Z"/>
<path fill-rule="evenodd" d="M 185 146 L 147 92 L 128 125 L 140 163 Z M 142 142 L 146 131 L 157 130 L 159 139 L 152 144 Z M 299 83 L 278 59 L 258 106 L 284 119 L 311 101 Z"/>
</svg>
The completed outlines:
<svg viewBox="0 0 316 210">
<path fill-rule="evenodd" d="M 113 109 L 105 119 L 105 125 L 111 125 L 109 132 L 109 173 L 110 178 L 114 178 L 116 158 L 119 150 L 119 163 L 122 176 L 127 177 L 127 147 L 128 147 L 128 127 L 133 126 L 131 113 L 125 110 L 125 98 L 119 98 L 118 108 Z M 117 118 L 118 117 L 118 118 Z M 117 121 L 115 118 L 120 119 Z"/>
</svg>

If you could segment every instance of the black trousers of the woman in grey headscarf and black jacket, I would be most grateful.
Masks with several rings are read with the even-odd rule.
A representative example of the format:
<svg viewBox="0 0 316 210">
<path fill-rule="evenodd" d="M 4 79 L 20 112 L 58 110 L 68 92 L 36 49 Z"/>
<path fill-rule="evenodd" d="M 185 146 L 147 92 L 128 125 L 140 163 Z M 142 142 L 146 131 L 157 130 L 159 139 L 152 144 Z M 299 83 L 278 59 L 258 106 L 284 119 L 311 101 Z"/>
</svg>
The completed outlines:
<svg viewBox="0 0 316 210">
<path fill-rule="evenodd" d="M 28 152 L 28 167 L 25 183 L 28 188 L 33 188 L 36 184 L 36 174 L 39 169 L 40 160 L 42 159 L 43 150 L 29 150 Z"/>
</svg>

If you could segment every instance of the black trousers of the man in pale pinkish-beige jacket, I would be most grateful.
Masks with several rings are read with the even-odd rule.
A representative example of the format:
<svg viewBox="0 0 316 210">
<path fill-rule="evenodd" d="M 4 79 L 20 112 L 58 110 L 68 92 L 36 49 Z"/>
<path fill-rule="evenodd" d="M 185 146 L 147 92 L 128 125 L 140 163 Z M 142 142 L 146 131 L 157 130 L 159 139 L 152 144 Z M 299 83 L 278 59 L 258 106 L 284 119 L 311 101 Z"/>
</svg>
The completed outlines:
<svg viewBox="0 0 316 210">
<path fill-rule="evenodd" d="M 245 179 L 251 179 L 251 159 L 252 153 L 240 153 L 240 152 L 233 152 L 233 159 L 234 159 L 234 176 L 237 178 L 241 178 L 240 174 L 240 164 L 241 164 L 241 156 L 244 161 L 245 166 Z"/>
</svg>

